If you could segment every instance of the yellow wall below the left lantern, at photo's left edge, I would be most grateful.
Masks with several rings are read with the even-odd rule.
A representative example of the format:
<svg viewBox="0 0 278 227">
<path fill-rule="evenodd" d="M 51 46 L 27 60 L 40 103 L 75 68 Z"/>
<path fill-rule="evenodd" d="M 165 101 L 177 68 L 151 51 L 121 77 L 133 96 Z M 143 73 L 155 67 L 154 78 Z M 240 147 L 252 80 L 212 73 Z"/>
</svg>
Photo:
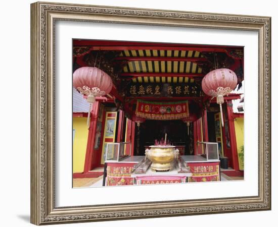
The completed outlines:
<svg viewBox="0 0 278 227">
<path fill-rule="evenodd" d="M 87 118 L 73 118 L 72 128 L 75 129 L 73 173 L 83 173 L 88 138 Z"/>
</svg>

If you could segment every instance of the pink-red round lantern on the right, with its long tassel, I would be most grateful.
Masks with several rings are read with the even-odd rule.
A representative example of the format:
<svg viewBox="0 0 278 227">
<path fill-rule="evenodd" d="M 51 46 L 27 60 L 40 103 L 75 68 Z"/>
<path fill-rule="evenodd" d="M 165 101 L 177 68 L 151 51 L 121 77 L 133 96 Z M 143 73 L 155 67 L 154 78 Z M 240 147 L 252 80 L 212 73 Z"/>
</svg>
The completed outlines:
<svg viewBox="0 0 278 227">
<path fill-rule="evenodd" d="M 209 72 L 202 80 L 202 89 L 206 95 L 216 97 L 220 105 L 221 123 L 223 123 L 222 103 L 224 96 L 228 95 L 237 86 L 238 78 L 234 71 L 229 69 L 216 69 Z"/>
</svg>

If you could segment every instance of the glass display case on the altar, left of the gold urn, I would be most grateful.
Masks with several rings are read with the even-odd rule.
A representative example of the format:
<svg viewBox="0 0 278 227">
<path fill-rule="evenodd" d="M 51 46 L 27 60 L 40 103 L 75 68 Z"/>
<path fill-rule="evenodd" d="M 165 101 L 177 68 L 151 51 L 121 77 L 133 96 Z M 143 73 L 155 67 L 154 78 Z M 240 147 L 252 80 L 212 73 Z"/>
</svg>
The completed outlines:
<svg viewBox="0 0 278 227">
<path fill-rule="evenodd" d="M 130 156 L 130 154 L 130 142 L 106 143 L 105 161 L 121 161 L 123 158 Z"/>
</svg>

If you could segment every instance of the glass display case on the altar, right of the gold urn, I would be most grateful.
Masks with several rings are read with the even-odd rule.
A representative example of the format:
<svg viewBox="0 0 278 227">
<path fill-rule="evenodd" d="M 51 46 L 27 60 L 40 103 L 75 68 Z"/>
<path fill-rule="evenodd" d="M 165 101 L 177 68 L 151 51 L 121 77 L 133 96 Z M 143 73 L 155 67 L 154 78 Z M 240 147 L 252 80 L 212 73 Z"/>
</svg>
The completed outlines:
<svg viewBox="0 0 278 227">
<path fill-rule="evenodd" d="M 219 160 L 218 143 L 197 142 L 199 144 L 198 154 L 207 158 L 207 161 Z"/>
</svg>

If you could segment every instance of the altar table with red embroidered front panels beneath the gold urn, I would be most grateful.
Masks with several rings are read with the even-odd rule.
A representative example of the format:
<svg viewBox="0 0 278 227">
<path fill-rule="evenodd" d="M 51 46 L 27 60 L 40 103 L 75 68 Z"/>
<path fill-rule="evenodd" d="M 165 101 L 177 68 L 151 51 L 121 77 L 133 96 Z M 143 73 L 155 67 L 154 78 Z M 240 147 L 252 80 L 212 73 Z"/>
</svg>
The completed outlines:
<svg viewBox="0 0 278 227">
<path fill-rule="evenodd" d="M 175 168 L 168 172 L 154 172 L 149 168 L 145 174 L 132 174 L 133 166 L 144 158 L 129 156 L 118 162 L 106 161 L 103 186 L 220 181 L 219 160 L 207 161 L 197 155 L 181 156 L 190 167 L 187 173 L 177 173 Z"/>
</svg>

